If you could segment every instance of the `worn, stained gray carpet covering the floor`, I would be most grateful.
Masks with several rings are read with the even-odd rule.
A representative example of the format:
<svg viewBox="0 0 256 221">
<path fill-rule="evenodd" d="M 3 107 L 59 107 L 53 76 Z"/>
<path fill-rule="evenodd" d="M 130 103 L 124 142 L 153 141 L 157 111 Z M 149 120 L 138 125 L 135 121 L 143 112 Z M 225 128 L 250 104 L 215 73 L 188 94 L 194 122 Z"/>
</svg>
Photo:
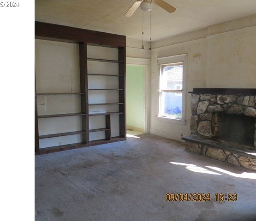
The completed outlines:
<svg viewBox="0 0 256 221">
<path fill-rule="evenodd" d="M 36 156 L 36 221 L 256 220 L 255 171 L 185 151 L 184 143 L 138 137 Z M 167 202 L 167 192 L 211 200 Z M 215 193 L 238 199 L 217 202 Z"/>
</svg>

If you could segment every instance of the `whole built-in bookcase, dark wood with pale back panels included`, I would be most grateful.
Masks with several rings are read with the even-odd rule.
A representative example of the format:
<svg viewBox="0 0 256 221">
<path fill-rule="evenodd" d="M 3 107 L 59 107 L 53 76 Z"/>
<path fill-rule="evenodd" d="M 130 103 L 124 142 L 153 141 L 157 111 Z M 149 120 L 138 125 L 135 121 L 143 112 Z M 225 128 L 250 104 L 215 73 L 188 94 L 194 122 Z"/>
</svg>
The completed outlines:
<svg viewBox="0 0 256 221">
<path fill-rule="evenodd" d="M 125 36 L 35 23 L 35 154 L 126 140 Z"/>
</svg>

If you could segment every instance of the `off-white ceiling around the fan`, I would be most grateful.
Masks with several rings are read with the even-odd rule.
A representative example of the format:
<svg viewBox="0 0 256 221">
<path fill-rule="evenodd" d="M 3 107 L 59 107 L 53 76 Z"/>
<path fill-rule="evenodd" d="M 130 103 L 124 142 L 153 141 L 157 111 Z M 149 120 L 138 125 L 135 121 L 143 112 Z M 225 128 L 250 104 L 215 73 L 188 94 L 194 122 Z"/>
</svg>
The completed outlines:
<svg viewBox="0 0 256 221">
<path fill-rule="evenodd" d="M 36 21 L 126 35 L 141 40 L 142 11 L 125 12 L 135 0 L 35 0 Z M 166 0 L 168 13 L 154 5 L 151 39 L 156 41 L 256 13 L 256 0 Z M 144 12 L 144 40 L 149 41 L 149 12 Z"/>
</svg>

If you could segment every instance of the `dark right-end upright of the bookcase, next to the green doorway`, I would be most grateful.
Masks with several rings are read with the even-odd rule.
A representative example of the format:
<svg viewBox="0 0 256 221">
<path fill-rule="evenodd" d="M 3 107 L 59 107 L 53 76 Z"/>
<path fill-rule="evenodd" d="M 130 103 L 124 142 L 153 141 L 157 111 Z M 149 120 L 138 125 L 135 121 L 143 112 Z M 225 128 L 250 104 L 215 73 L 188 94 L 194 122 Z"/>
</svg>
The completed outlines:
<svg viewBox="0 0 256 221">
<path fill-rule="evenodd" d="M 118 47 L 118 60 L 123 61 L 119 62 L 119 75 L 123 75 L 123 77 L 119 77 L 119 89 L 123 89 L 119 91 L 119 103 L 123 103 L 123 105 L 119 105 L 119 112 L 123 112 L 123 114 L 119 115 L 119 136 L 126 138 L 126 102 L 125 102 L 125 73 L 126 73 L 126 62 L 125 62 L 126 54 L 125 47 Z"/>
</svg>

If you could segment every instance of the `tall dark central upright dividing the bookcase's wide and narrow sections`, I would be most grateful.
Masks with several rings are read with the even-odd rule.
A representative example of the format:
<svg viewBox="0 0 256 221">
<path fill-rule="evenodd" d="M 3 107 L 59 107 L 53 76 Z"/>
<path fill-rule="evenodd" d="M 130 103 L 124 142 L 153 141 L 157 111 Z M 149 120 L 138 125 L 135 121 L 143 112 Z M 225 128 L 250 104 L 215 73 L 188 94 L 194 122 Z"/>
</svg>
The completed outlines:
<svg viewBox="0 0 256 221">
<path fill-rule="evenodd" d="M 79 66 L 80 66 L 80 92 L 81 112 L 86 113 L 82 117 L 83 144 L 89 144 L 89 107 L 88 107 L 88 73 L 87 73 L 87 43 L 79 43 Z"/>
</svg>

